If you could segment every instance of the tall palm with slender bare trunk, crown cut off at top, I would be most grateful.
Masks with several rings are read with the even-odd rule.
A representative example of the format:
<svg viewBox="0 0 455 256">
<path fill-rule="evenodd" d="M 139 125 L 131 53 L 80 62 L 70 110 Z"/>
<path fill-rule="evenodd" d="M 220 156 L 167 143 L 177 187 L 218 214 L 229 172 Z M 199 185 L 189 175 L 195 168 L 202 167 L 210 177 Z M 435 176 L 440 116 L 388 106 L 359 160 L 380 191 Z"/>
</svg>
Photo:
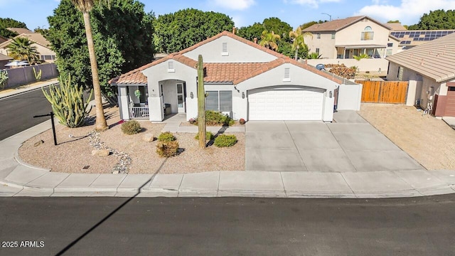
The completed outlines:
<svg viewBox="0 0 455 256">
<path fill-rule="evenodd" d="M 85 36 L 87 37 L 88 54 L 90 56 L 90 68 L 92 69 L 93 92 L 95 95 L 95 111 L 97 131 L 104 131 L 107 127 L 105 112 L 102 107 L 100 78 L 98 76 L 97 57 L 95 55 L 95 47 L 93 44 L 92 25 L 90 24 L 90 11 L 97 1 L 100 0 L 71 0 L 74 6 L 82 12 L 84 17 Z"/>
</svg>

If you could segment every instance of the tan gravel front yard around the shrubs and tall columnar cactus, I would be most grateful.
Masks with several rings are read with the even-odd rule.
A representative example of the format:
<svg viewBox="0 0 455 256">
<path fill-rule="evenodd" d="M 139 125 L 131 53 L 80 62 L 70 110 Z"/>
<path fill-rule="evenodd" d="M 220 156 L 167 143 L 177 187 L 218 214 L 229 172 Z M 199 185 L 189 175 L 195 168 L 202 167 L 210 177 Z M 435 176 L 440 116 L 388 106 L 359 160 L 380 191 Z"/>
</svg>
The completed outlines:
<svg viewBox="0 0 455 256">
<path fill-rule="evenodd" d="M 94 117 L 94 112 L 91 113 Z M 245 134 L 232 133 L 237 137 L 237 144 L 230 148 L 208 146 L 198 148 L 198 141 L 193 133 L 174 133 L 179 148 L 184 149 L 178 156 L 168 158 L 156 154 L 154 142 L 144 142 L 142 137 L 146 133 L 158 137 L 165 124 L 140 122 L 143 131 L 139 134 L 123 134 L 118 124 L 119 110 L 117 107 L 105 109 L 109 129 L 100 133 L 100 141 L 109 148 L 127 153 L 132 164 L 129 174 L 187 174 L 203 171 L 244 171 L 245 170 Z M 84 127 L 68 128 L 61 124 L 56 125 L 57 142 L 54 146 L 52 129 L 36 137 L 28 139 L 19 149 L 19 156 L 23 161 L 33 166 L 51 169 L 55 172 L 109 174 L 119 159 L 113 154 L 109 156 L 92 156 L 95 149 L 89 145 L 87 134 L 95 129 L 93 123 Z M 43 140 L 43 144 L 34 146 Z M 83 169 L 90 166 L 88 169 Z"/>
</svg>

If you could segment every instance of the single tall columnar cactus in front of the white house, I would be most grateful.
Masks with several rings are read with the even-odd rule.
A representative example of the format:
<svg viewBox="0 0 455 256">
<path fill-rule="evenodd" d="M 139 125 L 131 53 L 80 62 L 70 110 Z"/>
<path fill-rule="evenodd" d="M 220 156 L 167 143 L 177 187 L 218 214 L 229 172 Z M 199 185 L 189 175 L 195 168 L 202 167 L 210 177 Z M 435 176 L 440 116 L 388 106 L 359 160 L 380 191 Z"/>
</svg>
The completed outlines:
<svg viewBox="0 0 455 256">
<path fill-rule="evenodd" d="M 202 55 L 198 56 L 198 135 L 199 146 L 205 148 L 205 90 Z"/>
</svg>

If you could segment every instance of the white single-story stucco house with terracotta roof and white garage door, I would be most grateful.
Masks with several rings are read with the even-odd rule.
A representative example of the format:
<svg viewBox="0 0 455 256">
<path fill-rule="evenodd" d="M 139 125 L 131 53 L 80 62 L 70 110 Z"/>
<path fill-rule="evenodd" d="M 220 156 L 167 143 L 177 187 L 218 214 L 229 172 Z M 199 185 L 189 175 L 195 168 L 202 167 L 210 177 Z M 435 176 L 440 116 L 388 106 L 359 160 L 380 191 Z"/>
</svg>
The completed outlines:
<svg viewBox="0 0 455 256">
<path fill-rule="evenodd" d="M 206 109 L 233 119 L 331 122 L 336 89 L 355 85 L 224 31 L 109 81 L 117 86 L 121 118 L 196 117 L 198 55 L 205 68 Z M 347 104 L 354 108 L 360 107 L 357 89 Z"/>
</svg>

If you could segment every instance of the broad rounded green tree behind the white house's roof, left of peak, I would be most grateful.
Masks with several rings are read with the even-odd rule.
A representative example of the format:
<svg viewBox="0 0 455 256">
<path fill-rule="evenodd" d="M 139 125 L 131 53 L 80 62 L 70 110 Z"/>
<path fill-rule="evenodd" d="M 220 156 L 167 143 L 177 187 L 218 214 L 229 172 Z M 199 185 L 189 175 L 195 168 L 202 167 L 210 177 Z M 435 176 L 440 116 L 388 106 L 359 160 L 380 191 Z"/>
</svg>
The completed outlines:
<svg viewBox="0 0 455 256">
<path fill-rule="evenodd" d="M 234 21 L 213 11 L 184 9 L 165 14 L 154 22 L 154 44 L 160 53 L 173 53 L 223 31 L 232 31 Z"/>
</svg>

